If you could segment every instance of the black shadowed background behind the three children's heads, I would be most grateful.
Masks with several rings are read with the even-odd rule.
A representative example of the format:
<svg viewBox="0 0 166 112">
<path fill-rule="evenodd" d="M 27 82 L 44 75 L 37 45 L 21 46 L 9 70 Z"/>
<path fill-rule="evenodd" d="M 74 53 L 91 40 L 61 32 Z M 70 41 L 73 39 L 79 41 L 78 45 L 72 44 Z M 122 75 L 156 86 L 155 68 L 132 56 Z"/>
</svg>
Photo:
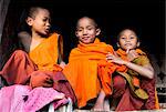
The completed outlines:
<svg viewBox="0 0 166 112">
<path fill-rule="evenodd" d="M 21 12 L 29 6 L 43 6 L 52 13 L 52 29 L 64 38 L 64 60 L 76 45 L 75 22 L 82 16 L 96 20 L 102 29 L 102 41 L 116 49 L 116 35 L 126 28 L 134 28 L 142 47 L 158 60 L 165 54 L 165 4 L 158 1 L 93 1 L 93 0 L 11 0 L 2 35 L 2 52 L 8 52 L 18 40 L 14 30 Z"/>
</svg>

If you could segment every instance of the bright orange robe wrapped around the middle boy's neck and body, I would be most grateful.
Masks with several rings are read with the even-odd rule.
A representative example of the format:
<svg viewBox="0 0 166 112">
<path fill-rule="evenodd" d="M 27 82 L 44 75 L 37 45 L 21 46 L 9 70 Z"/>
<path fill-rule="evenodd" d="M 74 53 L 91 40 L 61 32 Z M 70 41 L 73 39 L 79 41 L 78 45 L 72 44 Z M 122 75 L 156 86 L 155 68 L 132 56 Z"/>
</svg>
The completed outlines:
<svg viewBox="0 0 166 112">
<path fill-rule="evenodd" d="M 100 42 L 98 39 L 91 44 L 80 42 L 77 48 L 71 51 L 63 73 L 75 92 L 79 108 L 85 106 L 89 100 L 98 95 L 102 86 L 97 78 L 97 67 L 108 52 L 114 52 L 112 45 Z"/>
</svg>

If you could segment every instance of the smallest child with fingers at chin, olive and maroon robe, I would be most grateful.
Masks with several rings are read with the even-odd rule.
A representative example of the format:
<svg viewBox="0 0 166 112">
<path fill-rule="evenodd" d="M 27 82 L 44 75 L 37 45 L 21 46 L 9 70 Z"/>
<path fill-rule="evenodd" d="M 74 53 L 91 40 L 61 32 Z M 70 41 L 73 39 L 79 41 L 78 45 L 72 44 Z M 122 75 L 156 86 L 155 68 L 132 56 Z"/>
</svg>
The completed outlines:
<svg viewBox="0 0 166 112">
<path fill-rule="evenodd" d="M 117 41 L 118 57 L 108 53 L 106 59 L 128 69 L 112 75 L 112 101 L 115 111 L 158 109 L 154 69 L 146 53 L 138 49 L 139 40 L 136 33 L 125 29 L 118 34 Z"/>
</svg>

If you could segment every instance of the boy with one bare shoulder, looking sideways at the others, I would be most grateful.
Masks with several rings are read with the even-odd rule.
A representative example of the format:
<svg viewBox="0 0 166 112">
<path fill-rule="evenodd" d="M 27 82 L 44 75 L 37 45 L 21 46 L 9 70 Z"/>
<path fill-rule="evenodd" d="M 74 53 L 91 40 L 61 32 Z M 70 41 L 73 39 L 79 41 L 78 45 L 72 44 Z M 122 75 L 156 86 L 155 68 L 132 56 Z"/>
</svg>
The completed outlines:
<svg viewBox="0 0 166 112">
<path fill-rule="evenodd" d="M 31 7 L 25 22 L 31 33 L 21 32 L 19 37 L 28 54 L 22 50 L 14 51 L 0 71 L 1 77 L 9 85 L 28 84 L 32 89 L 53 88 L 75 102 L 74 92 L 61 72 L 65 65 L 61 58 L 62 37 L 55 32 L 50 33 L 49 10 Z"/>
</svg>

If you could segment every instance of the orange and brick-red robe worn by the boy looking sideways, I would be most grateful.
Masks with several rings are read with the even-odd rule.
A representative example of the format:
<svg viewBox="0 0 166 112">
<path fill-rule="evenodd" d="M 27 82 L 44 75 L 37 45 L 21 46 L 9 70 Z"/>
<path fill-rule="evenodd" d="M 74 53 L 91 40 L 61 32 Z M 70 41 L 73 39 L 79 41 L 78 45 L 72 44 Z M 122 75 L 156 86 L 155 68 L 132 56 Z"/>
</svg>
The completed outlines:
<svg viewBox="0 0 166 112">
<path fill-rule="evenodd" d="M 62 74 L 62 68 L 58 65 L 58 41 L 59 34 L 53 33 L 30 51 L 29 55 L 21 50 L 14 51 L 0 74 L 8 84 L 31 84 L 31 81 L 33 81 L 35 84 L 38 82 L 39 86 L 46 83 L 46 77 L 41 78 L 39 75 L 49 75 L 53 80 L 53 88 L 75 102 L 74 92 Z"/>
</svg>

